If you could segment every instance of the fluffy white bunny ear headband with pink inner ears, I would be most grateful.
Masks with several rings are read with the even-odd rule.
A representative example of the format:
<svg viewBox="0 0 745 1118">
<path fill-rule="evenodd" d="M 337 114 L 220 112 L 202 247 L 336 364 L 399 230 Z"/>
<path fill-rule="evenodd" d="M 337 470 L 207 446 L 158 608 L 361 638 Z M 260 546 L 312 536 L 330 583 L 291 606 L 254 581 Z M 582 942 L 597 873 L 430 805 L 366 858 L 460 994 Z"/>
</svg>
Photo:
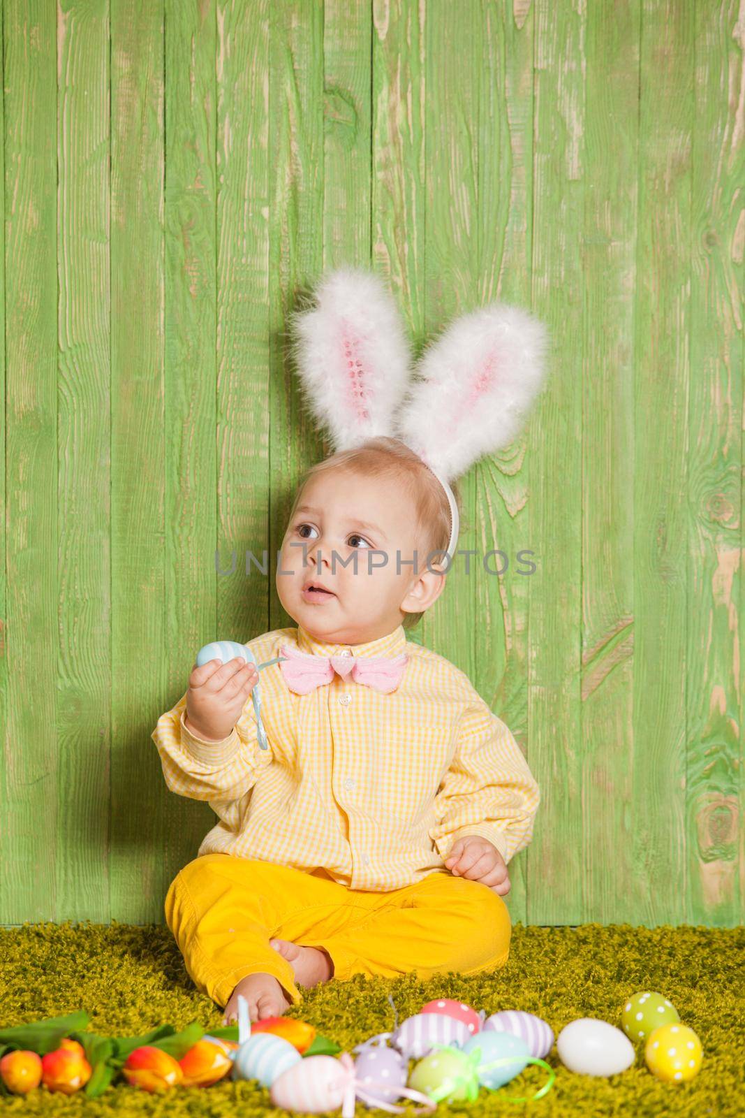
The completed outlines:
<svg viewBox="0 0 745 1118">
<path fill-rule="evenodd" d="M 518 306 L 493 303 L 453 320 L 410 379 L 403 320 L 374 272 L 329 272 L 315 297 L 290 314 L 308 410 L 334 452 L 386 435 L 429 466 L 450 504 L 449 569 L 459 522 L 448 482 L 519 430 L 542 386 L 546 328 Z"/>
</svg>

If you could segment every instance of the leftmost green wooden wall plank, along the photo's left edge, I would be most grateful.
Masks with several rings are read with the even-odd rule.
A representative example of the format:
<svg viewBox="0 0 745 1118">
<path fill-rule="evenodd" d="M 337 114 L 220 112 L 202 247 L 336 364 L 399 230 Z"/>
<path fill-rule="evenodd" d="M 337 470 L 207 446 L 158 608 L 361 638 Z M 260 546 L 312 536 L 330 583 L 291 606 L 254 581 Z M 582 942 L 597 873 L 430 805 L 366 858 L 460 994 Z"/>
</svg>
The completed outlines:
<svg viewBox="0 0 745 1118">
<path fill-rule="evenodd" d="M 6 0 L 2 18 L 6 562 L 0 899 L 3 921 L 22 923 L 64 915 L 57 875 L 58 847 L 66 842 L 58 798 L 65 761 L 57 721 L 57 25 L 55 4 L 48 0 Z M 68 616 L 71 612 L 70 603 Z M 89 735 L 85 748 L 101 752 L 98 736 Z M 66 784 L 69 777 L 68 767 Z M 101 868 L 99 854 L 88 853 Z M 71 856 L 79 858 L 79 851 Z M 103 882 L 105 888 L 105 874 Z M 88 875 L 83 888 L 89 885 Z"/>
</svg>

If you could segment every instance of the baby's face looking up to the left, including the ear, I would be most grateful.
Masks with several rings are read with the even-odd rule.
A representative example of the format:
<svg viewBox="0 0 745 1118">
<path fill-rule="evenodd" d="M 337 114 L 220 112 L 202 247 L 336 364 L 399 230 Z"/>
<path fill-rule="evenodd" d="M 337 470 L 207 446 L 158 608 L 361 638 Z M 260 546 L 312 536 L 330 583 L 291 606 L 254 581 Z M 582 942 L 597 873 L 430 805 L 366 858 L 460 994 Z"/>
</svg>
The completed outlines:
<svg viewBox="0 0 745 1118">
<path fill-rule="evenodd" d="M 413 499 L 390 479 L 346 470 L 312 477 L 277 567 L 277 594 L 289 616 L 318 641 L 362 644 L 393 632 L 407 613 L 427 609 L 445 578 L 428 571 L 421 548 L 414 574 L 414 515 Z M 309 582 L 333 593 L 309 593 Z"/>
</svg>

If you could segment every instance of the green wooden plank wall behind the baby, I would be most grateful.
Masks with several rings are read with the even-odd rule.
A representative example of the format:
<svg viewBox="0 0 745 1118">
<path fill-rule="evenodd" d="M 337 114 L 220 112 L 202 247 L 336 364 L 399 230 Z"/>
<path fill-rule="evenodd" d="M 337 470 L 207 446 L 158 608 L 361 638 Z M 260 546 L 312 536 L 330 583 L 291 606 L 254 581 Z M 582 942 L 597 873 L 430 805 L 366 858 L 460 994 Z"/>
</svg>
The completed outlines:
<svg viewBox="0 0 745 1118">
<path fill-rule="evenodd" d="M 241 560 L 328 451 L 286 322 L 347 263 L 418 351 L 551 328 L 464 483 L 509 567 L 416 637 L 541 784 L 513 920 L 742 921 L 744 49 L 739 0 L 4 0 L 4 925 L 160 922 L 211 826 L 150 733 L 200 645 L 292 624 Z"/>
</svg>

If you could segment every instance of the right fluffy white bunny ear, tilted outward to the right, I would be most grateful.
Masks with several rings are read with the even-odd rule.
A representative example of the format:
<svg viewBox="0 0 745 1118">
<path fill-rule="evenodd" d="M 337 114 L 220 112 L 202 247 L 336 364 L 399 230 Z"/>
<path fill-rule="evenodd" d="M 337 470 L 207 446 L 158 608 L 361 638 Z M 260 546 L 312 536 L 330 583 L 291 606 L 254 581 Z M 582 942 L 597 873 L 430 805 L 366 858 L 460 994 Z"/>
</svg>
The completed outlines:
<svg viewBox="0 0 745 1118">
<path fill-rule="evenodd" d="M 424 350 L 395 419 L 403 439 L 452 481 L 519 430 L 544 377 L 548 335 L 518 306 L 464 314 Z"/>
</svg>

